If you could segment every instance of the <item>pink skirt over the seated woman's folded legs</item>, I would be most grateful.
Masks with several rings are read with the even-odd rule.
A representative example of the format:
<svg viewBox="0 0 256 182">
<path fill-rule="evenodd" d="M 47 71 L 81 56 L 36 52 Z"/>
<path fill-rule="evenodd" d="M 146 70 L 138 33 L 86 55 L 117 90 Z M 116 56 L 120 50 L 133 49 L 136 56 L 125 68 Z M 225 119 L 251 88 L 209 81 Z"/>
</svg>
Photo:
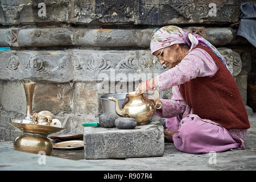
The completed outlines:
<svg viewBox="0 0 256 182">
<path fill-rule="evenodd" d="M 201 119 L 196 114 L 182 118 L 178 115 L 166 120 L 168 131 L 174 134 L 174 146 L 188 153 L 222 152 L 234 148 L 245 149 L 247 130 L 227 130 L 209 119 Z"/>
</svg>

